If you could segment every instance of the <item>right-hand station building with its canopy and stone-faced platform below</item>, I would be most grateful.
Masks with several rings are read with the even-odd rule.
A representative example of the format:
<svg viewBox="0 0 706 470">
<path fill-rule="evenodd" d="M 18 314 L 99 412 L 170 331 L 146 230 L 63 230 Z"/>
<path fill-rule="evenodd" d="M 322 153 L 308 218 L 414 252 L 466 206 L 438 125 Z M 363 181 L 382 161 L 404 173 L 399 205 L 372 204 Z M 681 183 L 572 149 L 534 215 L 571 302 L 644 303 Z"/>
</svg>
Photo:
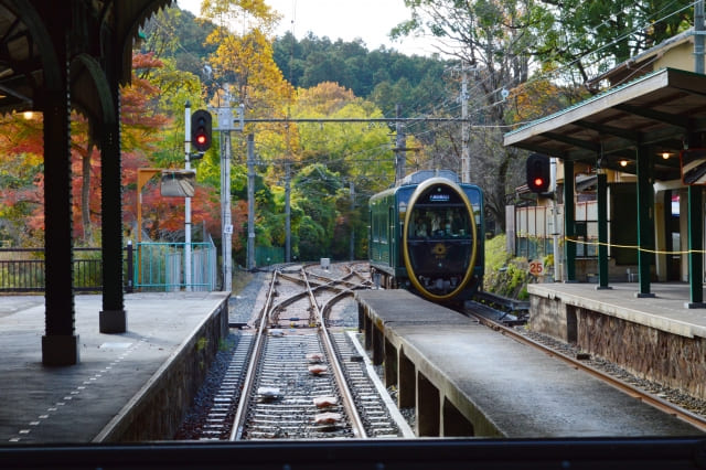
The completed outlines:
<svg viewBox="0 0 706 470">
<path fill-rule="evenodd" d="M 511 249 L 559 258 L 556 281 L 527 288 L 530 328 L 706 399 L 700 33 L 618 65 L 593 81 L 605 92 L 504 143 L 555 162 L 556 197 L 507 209 Z"/>
</svg>

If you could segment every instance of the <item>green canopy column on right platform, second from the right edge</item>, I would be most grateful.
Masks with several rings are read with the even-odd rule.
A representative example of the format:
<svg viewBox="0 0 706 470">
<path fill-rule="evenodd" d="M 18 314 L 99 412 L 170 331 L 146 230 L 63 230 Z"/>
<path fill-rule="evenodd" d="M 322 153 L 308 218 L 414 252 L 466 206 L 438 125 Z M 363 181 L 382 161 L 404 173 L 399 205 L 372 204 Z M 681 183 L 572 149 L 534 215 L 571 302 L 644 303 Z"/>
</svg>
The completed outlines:
<svg viewBox="0 0 706 470">
<path fill-rule="evenodd" d="M 650 149 L 638 147 L 638 271 L 640 291 L 635 297 L 654 297 L 650 292 L 650 268 L 654 258 L 654 190 L 650 171 Z"/>
</svg>

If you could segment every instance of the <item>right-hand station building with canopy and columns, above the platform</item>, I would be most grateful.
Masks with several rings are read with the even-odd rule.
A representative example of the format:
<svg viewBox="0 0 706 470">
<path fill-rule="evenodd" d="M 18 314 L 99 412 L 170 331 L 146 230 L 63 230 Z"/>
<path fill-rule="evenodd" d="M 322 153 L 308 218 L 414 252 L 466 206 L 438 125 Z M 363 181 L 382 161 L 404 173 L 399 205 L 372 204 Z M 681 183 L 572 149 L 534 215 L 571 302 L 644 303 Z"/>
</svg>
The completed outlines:
<svg viewBox="0 0 706 470">
<path fill-rule="evenodd" d="M 555 197 L 506 207 L 510 250 L 554 254 L 556 280 L 638 281 L 644 295 L 650 282 L 684 281 L 700 291 L 703 181 L 682 174 L 682 161 L 698 167 L 695 149 L 706 147 L 695 38 L 693 29 L 671 38 L 589 83 L 606 92 L 505 135 L 506 146 L 553 158 L 556 174 Z"/>
</svg>

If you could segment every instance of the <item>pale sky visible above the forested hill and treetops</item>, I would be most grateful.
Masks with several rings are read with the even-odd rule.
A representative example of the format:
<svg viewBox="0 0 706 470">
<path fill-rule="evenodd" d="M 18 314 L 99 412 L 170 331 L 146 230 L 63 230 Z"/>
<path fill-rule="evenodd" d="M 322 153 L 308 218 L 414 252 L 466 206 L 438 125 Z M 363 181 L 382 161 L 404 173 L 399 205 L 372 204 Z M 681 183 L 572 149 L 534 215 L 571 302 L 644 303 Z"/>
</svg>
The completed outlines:
<svg viewBox="0 0 706 470">
<path fill-rule="evenodd" d="M 430 55 L 436 50 L 429 40 L 392 41 L 389 31 L 410 18 L 404 0 L 265 0 L 282 15 L 277 35 L 292 31 L 302 39 L 311 31 L 331 41 L 361 38 L 368 51 L 381 44 L 405 54 Z M 199 15 L 201 0 L 178 0 L 179 7 Z M 293 20 L 293 25 L 292 25 Z"/>
</svg>

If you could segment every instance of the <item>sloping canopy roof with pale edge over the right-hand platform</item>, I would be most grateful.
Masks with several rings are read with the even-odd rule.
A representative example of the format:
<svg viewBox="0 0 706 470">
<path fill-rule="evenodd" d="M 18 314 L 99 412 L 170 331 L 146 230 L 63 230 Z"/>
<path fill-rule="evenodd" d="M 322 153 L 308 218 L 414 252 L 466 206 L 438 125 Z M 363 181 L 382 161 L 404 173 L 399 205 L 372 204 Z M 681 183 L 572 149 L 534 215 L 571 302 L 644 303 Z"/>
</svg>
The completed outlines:
<svg viewBox="0 0 706 470">
<path fill-rule="evenodd" d="M 688 136 L 705 131 L 706 75 L 662 68 L 507 132 L 504 145 L 628 173 L 648 146 L 677 157 L 654 159 L 654 177 L 675 180 Z"/>
</svg>

